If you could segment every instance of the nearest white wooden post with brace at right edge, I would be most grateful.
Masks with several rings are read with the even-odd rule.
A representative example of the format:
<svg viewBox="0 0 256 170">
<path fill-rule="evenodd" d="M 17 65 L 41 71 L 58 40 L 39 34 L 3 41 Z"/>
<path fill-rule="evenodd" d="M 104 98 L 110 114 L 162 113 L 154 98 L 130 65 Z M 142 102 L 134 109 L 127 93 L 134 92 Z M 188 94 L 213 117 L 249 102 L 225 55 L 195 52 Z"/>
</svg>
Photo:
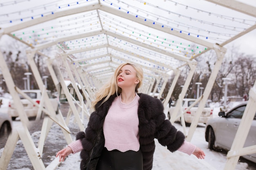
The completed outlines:
<svg viewBox="0 0 256 170">
<path fill-rule="evenodd" d="M 241 155 L 248 155 L 256 153 L 256 145 L 243 148 L 245 140 L 248 136 L 248 132 L 252 126 L 252 121 L 255 116 L 256 110 L 256 81 L 254 82 L 254 87 L 249 91 L 249 100 L 245 108 L 245 112 L 238 126 L 236 136 L 234 138 L 233 144 L 230 151 L 227 153 L 227 162 L 225 164 L 224 170 L 234 170 L 236 164 Z M 243 150 L 244 149 L 244 150 Z"/>
</svg>

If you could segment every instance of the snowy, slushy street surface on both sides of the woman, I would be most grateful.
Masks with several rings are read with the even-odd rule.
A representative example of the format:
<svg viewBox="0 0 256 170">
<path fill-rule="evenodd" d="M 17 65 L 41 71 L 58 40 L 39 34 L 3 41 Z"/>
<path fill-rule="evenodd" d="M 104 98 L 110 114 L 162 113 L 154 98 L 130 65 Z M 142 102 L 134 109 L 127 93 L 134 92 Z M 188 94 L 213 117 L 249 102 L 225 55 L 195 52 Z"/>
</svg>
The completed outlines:
<svg viewBox="0 0 256 170">
<path fill-rule="evenodd" d="M 1 111 L 4 111 L 5 106 L 1 107 Z M 68 104 L 61 104 L 61 112 L 65 117 L 67 111 L 69 109 Z M 216 108 L 217 110 L 217 108 Z M 214 114 L 216 115 L 216 110 Z M 37 146 L 38 139 L 40 137 L 40 128 L 43 123 L 43 119 L 40 121 L 31 120 L 31 127 L 29 128 L 29 132 L 35 145 Z M 19 120 L 13 121 L 13 127 L 18 126 L 20 124 Z M 84 124 L 87 124 L 87 119 L 85 119 Z M 74 116 L 72 116 L 70 120 L 70 124 L 68 125 L 72 132 L 72 137 L 74 139 L 76 132 L 79 130 L 76 123 L 74 123 Z M 175 127 L 178 130 L 182 131 L 182 126 L 179 123 L 175 123 Z M 192 138 L 192 143 L 202 148 L 206 154 L 204 160 L 197 159 L 194 155 L 186 155 L 182 152 L 169 152 L 166 148 L 161 146 L 157 140 L 156 143 L 156 150 L 154 155 L 154 162 L 153 162 L 153 170 L 177 170 L 181 169 L 184 170 L 191 169 L 193 170 L 206 170 L 210 169 L 209 165 L 216 168 L 216 170 L 223 170 L 226 162 L 226 153 L 225 152 L 215 152 L 210 151 L 208 149 L 208 143 L 204 139 L 204 124 L 199 124 L 195 134 Z M 186 128 L 188 132 L 189 127 Z M 55 159 L 56 152 L 61 150 L 63 147 L 66 146 L 66 141 L 63 138 L 61 128 L 57 124 L 53 124 L 49 135 L 47 136 L 45 147 L 43 151 L 43 162 L 45 167 L 49 165 L 49 163 Z M 0 139 L 0 155 L 2 154 L 4 144 L 6 143 L 7 138 Z M 76 155 L 70 155 L 65 159 L 64 162 L 57 168 L 57 170 L 79 170 L 80 165 L 80 158 L 79 153 Z M 7 170 L 33 170 L 33 167 L 29 161 L 29 158 L 25 152 L 25 149 L 22 145 L 22 142 L 19 140 L 16 148 L 14 150 L 13 156 L 9 163 Z M 240 159 L 240 162 L 236 166 L 236 170 L 256 170 L 256 165 L 250 161 L 245 159 Z"/>
</svg>

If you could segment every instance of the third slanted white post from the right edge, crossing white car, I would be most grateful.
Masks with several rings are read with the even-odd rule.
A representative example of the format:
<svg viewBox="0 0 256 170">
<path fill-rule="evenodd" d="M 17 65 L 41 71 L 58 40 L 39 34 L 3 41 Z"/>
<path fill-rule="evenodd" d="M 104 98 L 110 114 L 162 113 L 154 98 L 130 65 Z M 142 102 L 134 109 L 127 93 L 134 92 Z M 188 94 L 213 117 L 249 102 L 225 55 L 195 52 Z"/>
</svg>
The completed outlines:
<svg viewBox="0 0 256 170">
<path fill-rule="evenodd" d="M 189 88 L 189 84 L 190 84 L 190 82 L 191 82 L 191 79 L 192 79 L 192 77 L 193 77 L 193 74 L 195 73 L 196 64 L 197 64 L 197 63 L 193 63 L 193 64 L 192 64 L 192 63 L 189 63 L 190 71 L 189 71 L 188 77 L 186 78 L 186 82 L 184 83 L 184 86 L 183 86 L 183 88 L 182 88 L 182 91 L 181 91 L 181 93 L 180 93 L 180 97 L 181 97 L 181 98 L 179 98 L 179 99 L 180 99 L 181 101 L 184 99 L 184 97 L 185 97 L 185 95 L 186 95 L 186 91 L 187 91 L 187 89 Z M 173 110 L 173 114 L 172 114 L 171 120 L 170 120 L 172 124 L 174 123 L 174 121 L 176 121 L 175 118 L 176 118 L 177 115 L 178 115 L 179 109 L 180 109 L 180 103 L 177 102 L 177 104 L 176 104 L 176 106 L 175 106 L 175 108 L 174 108 L 174 110 Z"/>
</svg>

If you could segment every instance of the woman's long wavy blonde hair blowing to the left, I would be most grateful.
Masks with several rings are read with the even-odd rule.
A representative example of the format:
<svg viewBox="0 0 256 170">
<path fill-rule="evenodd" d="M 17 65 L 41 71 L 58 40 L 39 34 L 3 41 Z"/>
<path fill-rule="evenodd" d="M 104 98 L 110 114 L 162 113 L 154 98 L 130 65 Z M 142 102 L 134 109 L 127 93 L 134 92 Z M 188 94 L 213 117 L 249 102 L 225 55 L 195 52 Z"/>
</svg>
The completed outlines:
<svg viewBox="0 0 256 170">
<path fill-rule="evenodd" d="M 109 97 L 111 95 L 114 95 L 115 93 L 117 95 L 119 95 L 122 91 L 122 89 L 120 87 L 117 86 L 117 76 L 119 75 L 119 71 L 121 70 L 121 68 L 125 65 L 130 65 L 132 66 L 135 71 L 136 71 L 136 77 L 139 80 L 139 83 L 137 84 L 135 91 L 138 93 L 138 88 L 141 86 L 142 84 L 142 79 L 143 79 L 143 70 L 141 67 L 136 66 L 134 64 L 130 64 L 130 63 L 124 63 L 124 64 L 120 64 L 116 70 L 115 73 L 112 75 L 110 81 L 106 84 L 104 84 L 99 91 L 96 93 L 96 98 L 94 101 L 92 101 L 92 110 L 95 110 L 95 105 L 101 101 L 101 99 L 103 99 L 104 97 L 106 97 L 103 102 L 101 104 L 103 104 L 104 102 L 106 102 Z"/>
</svg>

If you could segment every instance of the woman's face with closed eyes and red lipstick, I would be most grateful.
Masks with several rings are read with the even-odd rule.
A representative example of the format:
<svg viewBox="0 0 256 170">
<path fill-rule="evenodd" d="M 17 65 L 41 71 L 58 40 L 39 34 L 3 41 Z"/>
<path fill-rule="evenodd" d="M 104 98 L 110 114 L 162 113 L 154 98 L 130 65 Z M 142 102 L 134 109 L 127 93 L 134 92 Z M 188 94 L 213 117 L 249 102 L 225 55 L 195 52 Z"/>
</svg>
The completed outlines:
<svg viewBox="0 0 256 170">
<path fill-rule="evenodd" d="M 135 69 L 130 65 L 123 66 L 120 71 L 119 75 L 117 76 L 117 86 L 120 88 L 132 88 L 136 87 L 139 83 L 139 80 L 136 77 Z"/>
</svg>

